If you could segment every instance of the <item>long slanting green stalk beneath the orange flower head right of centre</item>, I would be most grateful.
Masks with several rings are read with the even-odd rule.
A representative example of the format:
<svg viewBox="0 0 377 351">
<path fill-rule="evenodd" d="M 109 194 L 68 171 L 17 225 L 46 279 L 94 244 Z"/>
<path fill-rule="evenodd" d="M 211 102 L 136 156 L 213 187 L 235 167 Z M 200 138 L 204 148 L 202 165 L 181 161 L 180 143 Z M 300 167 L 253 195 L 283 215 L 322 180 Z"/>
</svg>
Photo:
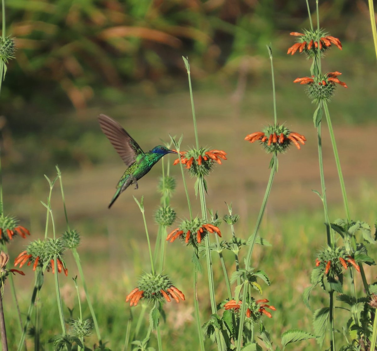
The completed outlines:
<svg viewBox="0 0 377 351">
<path fill-rule="evenodd" d="M 273 154 L 273 164 L 271 166 L 271 172 L 270 172 L 270 178 L 268 179 L 267 183 L 267 188 L 266 192 L 264 194 L 264 198 L 262 201 L 262 206 L 259 211 L 259 215 L 257 218 L 257 223 L 254 228 L 254 233 L 250 238 L 250 244 L 249 244 L 249 249 L 247 252 L 246 260 L 245 260 L 245 269 L 248 270 L 250 268 L 250 259 L 251 259 L 251 254 L 253 253 L 254 249 L 254 244 L 257 238 L 257 234 L 259 232 L 259 227 L 261 226 L 263 215 L 267 206 L 267 200 L 268 197 L 270 196 L 271 188 L 272 188 L 272 183 L 274 180 L 274 176 L 276 173 L 277 169 L 277 154 Z M 242 299 L 241 301 L 246 301 L 246 296 L 247 296 L 247 291 L 248 289 L 246 288 L 246 282 L 243 283 L 243 291 L 242 291 Z M 239 319 L 239 330 L 238 330 L 238 339 L 237 339 L 237 351 L 241 350 L 241 345 L 242 345 L 242 333 L 244 331 L 244 321 L 245 321 L 245 314 L 246 314 L 246 304 L 241 304 L 241 313 L 240 313 L 240 319 Z"/>
</svg>

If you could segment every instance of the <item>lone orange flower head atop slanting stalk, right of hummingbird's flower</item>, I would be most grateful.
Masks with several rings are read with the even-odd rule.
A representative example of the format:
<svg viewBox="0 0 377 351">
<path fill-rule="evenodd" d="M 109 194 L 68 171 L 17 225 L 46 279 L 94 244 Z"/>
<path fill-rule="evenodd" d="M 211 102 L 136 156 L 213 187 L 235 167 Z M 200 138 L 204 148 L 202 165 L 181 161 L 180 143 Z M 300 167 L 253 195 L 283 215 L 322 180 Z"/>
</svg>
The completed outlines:
<svg viewBox="0 0 377 351">
<path fill-rule="evenodd" d="M 283 153 L 287 150 L 291 142 L 300 150 L 299 142 L 305 145 L 306 138 L 299 133 L 290 131 L 282 124 L 269 125 L 265 128 L 265 131 L 258 131 L 247 135 L 245 140 L 251 143 L 259 140 L 268 153 Z"/>
</svg>

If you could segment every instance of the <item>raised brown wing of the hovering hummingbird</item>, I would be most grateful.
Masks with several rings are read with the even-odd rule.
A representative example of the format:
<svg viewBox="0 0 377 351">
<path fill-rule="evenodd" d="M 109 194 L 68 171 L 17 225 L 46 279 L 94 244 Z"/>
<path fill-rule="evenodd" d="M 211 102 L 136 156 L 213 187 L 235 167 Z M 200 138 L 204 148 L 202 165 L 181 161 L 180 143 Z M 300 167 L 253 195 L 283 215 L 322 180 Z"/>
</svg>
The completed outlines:
<svg viewBox="0 0 377 351">
<path fill-rule="evenodd" d="M 130 134 L 111 117 L 106 116 L 106 114 L 100 114 L 98 121 L 100 122 L 103 133 L 107 136 L 107 139 L 110 140 L 110 143 L 112 143 L 127 167 L 135 162 L 137 155 L 144 153 Z"/>
</svg>

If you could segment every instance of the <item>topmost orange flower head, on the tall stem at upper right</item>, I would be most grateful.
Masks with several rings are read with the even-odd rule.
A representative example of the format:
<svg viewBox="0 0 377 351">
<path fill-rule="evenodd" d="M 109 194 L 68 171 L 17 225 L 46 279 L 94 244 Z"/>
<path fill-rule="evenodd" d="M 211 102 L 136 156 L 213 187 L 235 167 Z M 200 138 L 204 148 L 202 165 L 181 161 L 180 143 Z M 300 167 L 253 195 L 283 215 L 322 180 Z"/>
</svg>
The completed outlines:
<svg viewBox="0 0 377 351">
<path fill-rule="evenodd" d="M 323 54 L 331 44 L 337 46 L 340 50 L 342 50 L 342 43 L 338 38 L 333 37 L 332 35 L 328 35 L 322 29 L 315 30 L 315 31 L 307 31 L 304 30 L 304 33 L 298 32 L 291 32 L 290 35 L 294 35 L 296 38 L 297 43 L 293 44 L 289 49 L 287 54 L 293 55 L 295 52 L 305 52 L 308 57 L 314 57 L 318 53 L 318 45 L 321 54 Z M 319 37 L 319 43 L 318 43 Z"/>
</svg>

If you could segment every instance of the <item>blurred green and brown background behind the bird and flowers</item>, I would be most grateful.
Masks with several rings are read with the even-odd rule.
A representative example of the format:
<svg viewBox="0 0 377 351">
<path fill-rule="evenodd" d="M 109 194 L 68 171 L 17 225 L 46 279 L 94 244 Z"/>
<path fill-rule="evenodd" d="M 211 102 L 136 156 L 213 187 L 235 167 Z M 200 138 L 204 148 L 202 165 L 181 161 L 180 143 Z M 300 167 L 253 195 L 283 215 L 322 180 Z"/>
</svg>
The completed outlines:
<svg viewBox="0 0 377 351">
<path fill-rule="evenodd" d="M 310 3 L 314 12 L 315 2 Z M 322 70 L 342 72 L 340 80 L 348 85 L 337 87 L 330 113 L 351 208 L 373 223 L 377 72 L 367 2 L 321 1 L 320 23 L 343 44 L 343 50 L 331 47 Z M 102 134 L 97 116 L 104 113 L 118 120 L 144 151 L 161 140 L 168 142 L 169 133 L 183 133 L 181 148 L 191 147 L 195 139 L 182 56 L 191 65 L 199 143 L 228 153 L 228 160 L 216 165 L 208 178 L 208 207 L 223 215 L 224 201 L 233 203 L 233 212 L 241 215 L 237 234 L 246 238 L 262 202 L 270 157 L 243 139 L 273 122 L 266 47 L 271 43 L 278 121 L 304 134 L 308 142 L 280 157 L 262 226 L 262 235 L 274 246 L 257 252 L 256 262 L 269 256 L 274 273 L 263 269 L 279 283 L 288 267 L 302 268 L 302 259 L 314 261 L 316 249 L 325 243 L 322 204 L 311 191 L 320 189 L 314 106 L 303 87 L 293 84 L 295 78 L 310 75 L 311 62 L 299 53 L 287 55 L 294 44 L 289 33 L 309 28 L 305 1 L 12 0 L 6 3 L 6 28 L 6 34 L 15 37 L 17 52 L 0 95 L 5 212 L 21 219 L 32 240 L 43 237 L 46 213 L 40 200 L 46 201 L 49 191 L 43 175 L 54 178 L 59 165 L 70 226 L 82 235 L 84 271 L 93 287 L 106 279 L 101 298 L 115 294 L 122 299 L 148 269 L 142 217 L 132 195 L 144 195 L 153 237 L 161 161 L 139 181 L 137 191 L 127 189 L 108 210 L 125 166 Z M 323 133 L 327 195 L 335 219 L 343 216 L 342 198 L 326 127 Z M 163 160 L 171 165 L 173 158 Z M 188 211 L 178 166 L 170 172 L 177 178 L 172 206 L 183 218 Z M 63 232 L 58 186 L 52 206 L 57 230 Z M 194 204 L 196 213 L 199 204 Z M 295 243 L 297 237 L 307 247 Z M 25 244 L 18 239 L 10 250 L 17 255 Z M 190 260 L 178 242 L 169 250 L 168 263 L 177 253 Z M 70 257 L 67 262 L 69 267 Z M 310 269 L 287 284 L 293 302 L 309 284 Z M 182 279 L 191 274 L 186 270 L 168 273 L 191 286 Z M 71 274 L 75 276 L 74 269 Z M 69 279 L 66 284 L 68 291 L 73 289 Z M 276 284 L 271 293 L 280 289 Z"/>
</svg>

